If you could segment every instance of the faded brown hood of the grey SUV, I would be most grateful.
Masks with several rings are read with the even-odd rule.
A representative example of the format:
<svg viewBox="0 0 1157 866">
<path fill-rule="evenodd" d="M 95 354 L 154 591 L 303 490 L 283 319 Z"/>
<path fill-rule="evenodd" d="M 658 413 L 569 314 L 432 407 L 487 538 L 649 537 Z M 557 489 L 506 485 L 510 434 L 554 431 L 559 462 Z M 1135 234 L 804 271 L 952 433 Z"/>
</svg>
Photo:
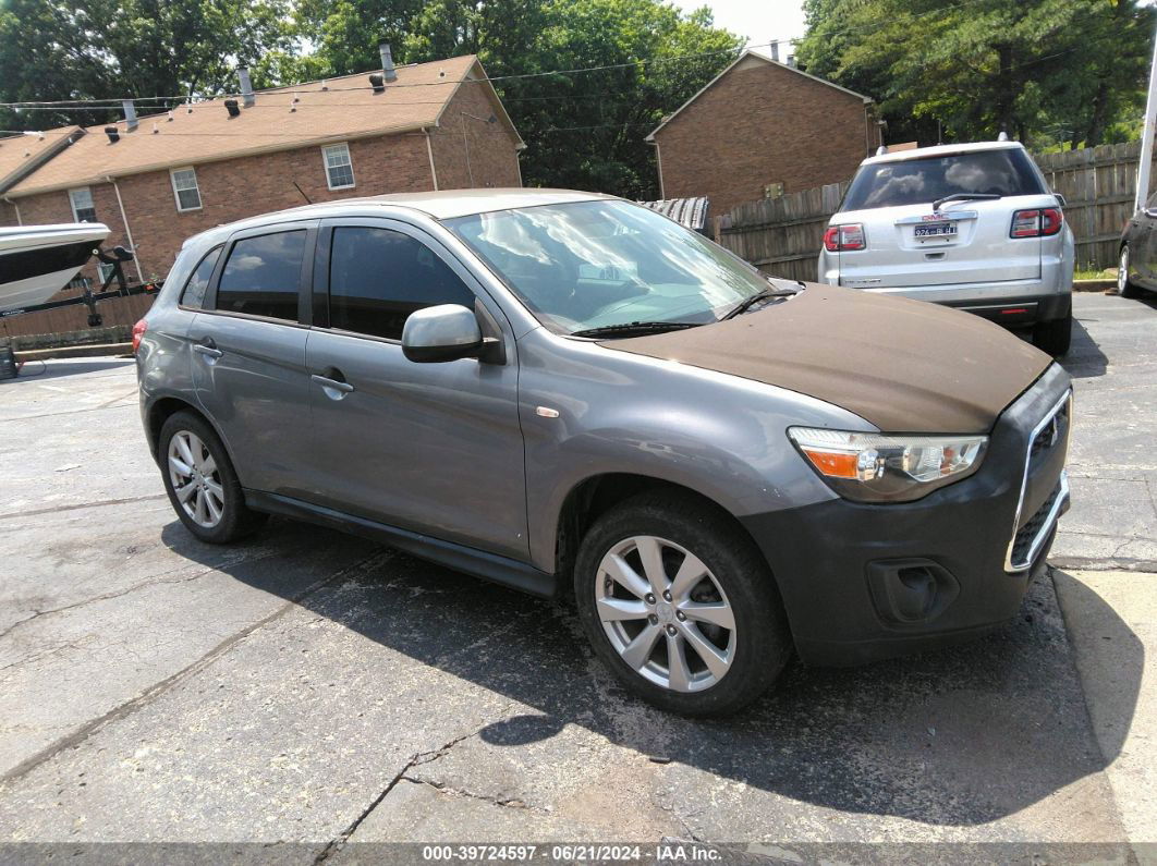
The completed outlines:
<svg viewBox="0 0 1157 866">
<path fill-rule="evenodd" d="M 885 432 L 988 432 L 1052 363 L 971 313 L 806 286 L 727 321 L 599 345 L 797 391 Z"/>
</svg>

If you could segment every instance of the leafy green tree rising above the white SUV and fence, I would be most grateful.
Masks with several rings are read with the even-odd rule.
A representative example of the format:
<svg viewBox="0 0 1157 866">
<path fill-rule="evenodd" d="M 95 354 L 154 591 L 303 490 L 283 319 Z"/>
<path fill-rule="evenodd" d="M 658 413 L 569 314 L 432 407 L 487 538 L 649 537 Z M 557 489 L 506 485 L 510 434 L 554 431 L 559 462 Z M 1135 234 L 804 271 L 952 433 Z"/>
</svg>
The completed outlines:
<svg viewBox="0 0 1157 866">
<path fill-rule="evenodd" d="M 1138 105 L 1137 0 L 804 0 L 809 72 L 880 102 L 889 139 L 1097 145 Z"/>
</svg>

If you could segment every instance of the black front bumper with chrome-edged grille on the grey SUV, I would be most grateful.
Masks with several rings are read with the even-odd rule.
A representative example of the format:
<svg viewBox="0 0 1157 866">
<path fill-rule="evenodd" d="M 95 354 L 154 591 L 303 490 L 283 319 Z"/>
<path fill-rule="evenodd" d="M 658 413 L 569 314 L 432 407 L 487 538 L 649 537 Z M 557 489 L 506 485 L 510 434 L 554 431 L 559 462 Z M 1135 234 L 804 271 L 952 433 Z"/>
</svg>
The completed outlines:
<svg viewBox="0 0 1157 866">
<path fill-rule="evenodd" d="M 832 499 L 744 519 L 804 661 L 916 652 L 1016 616 L 1068 508 L 1069 393 L 1052 365 L 997 420 L 980 469 L 918 502 Z"/>
</svg>

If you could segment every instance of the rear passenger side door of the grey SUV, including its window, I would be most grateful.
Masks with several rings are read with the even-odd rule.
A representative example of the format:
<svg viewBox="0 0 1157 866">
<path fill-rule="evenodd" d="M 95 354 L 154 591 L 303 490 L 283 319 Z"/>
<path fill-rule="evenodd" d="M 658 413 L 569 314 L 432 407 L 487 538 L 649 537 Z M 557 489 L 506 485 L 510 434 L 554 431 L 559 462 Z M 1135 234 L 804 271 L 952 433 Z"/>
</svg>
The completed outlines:
<svg viewBox="0 0 1157 866">
<path fill-rule="evenodd" d="M 295 495 L 309 467 L 308 287 L 317 222 L 238 232 L 189 331 L 193 386 L 244 487 Z"/>
</svg>

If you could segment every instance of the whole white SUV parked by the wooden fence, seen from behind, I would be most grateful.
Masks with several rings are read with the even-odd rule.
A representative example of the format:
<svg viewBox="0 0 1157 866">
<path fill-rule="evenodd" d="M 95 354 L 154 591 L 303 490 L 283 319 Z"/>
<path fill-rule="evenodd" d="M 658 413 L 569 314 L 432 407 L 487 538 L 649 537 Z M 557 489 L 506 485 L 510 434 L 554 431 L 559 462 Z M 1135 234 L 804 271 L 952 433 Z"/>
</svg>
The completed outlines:
<svg viewBox="0 0 1157 866">
<path fill-rule="evenodd" d="M 1032 326 L 1069 348 L 1073 231 L 1016 141 L 880 153 L 860 164 L 819 253 L 819 281 Z"/>
</svg>

